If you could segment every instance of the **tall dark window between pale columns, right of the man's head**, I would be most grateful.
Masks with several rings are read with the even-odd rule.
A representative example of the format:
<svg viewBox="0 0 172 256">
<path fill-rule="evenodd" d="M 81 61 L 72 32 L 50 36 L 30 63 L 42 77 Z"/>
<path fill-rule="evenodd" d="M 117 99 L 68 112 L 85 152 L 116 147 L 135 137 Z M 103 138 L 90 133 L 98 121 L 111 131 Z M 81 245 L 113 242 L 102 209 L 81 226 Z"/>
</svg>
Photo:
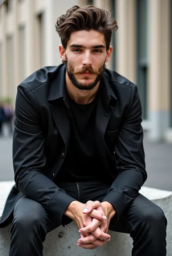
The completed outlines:
<svg viewBox="0 0 172 256">
<path fill-rule="evenodd" d="M 147 119 L 148 76 L 148 0 L 136 1 L 137 84 L 142 103 L 143 119 Z"/>
</svg>

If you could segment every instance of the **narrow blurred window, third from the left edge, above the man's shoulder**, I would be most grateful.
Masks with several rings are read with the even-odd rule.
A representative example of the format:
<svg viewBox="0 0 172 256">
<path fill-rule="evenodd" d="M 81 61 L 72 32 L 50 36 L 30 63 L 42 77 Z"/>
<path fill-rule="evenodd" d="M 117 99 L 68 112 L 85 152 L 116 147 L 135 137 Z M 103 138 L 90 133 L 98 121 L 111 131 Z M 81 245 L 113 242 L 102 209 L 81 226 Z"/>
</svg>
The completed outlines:
<svg viewBox="0 0 172 256">
<path fill-rule="evenodd" d="M 26 63 L 25 63 L 25 55 L 26 55 L 26 48 L 25 48 L 25 27 L 21 26 L 19 28 L 19 45 L 20 45 L 20 80 L 23 81 L 26 77 L 25 69 L 26 69 Z"/>
</svg>

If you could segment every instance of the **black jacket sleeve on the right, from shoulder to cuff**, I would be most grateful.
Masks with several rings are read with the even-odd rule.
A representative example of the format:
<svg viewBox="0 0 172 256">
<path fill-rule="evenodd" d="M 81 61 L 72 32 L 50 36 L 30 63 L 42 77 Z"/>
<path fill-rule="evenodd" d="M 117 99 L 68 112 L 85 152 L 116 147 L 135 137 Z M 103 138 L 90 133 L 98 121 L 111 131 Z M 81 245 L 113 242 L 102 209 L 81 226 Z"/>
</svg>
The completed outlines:
<svg viewBox="0 0 172 256">
<path fill-rule="evenodd" d="M 130 107 L 120 127 L 118 141 L 115 145 L 118 176 L 102 200 L 114 206 L 116 220 L 135 199 L 147 179 L 141 122 L 142 107 L 137 86 L 134 85 Z"/>
</svg>

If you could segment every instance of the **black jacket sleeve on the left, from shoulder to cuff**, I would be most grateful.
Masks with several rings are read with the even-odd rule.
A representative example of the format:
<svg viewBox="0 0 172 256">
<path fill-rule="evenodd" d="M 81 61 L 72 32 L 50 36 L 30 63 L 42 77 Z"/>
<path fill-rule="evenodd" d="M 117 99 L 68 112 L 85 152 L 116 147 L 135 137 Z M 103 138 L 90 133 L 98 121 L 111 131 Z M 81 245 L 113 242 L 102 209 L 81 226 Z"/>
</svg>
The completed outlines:
<svg viewBox="0 0 172 256">
<path fill-rule="evenodd" d="M 44 137 L 37 101 L 26 86 L 16 96 L 13 134 L 13 167 L 17 189 L 62 220 L 66 207 L 75 199 L 46 177 Z M 67 217 L 67 216 L 66 216 Z"/>
</svg>

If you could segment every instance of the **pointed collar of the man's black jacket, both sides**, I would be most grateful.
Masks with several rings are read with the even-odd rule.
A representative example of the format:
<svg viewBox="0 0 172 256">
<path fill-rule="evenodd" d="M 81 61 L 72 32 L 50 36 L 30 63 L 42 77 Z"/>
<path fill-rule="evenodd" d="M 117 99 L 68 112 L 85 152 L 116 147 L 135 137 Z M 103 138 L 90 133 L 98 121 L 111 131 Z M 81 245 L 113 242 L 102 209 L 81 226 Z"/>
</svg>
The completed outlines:
<svg viewBox="0 0 172 256">
<path fill-rule="evenodd" d="M 54 76 L 50 81 L 48 101 L 54 101 L 59 98 L 63 98 L 65 104 L 69 106 L 65 76 L 66 66 L 64 64 L 61 64 L 58 66 L 57 71 L 54 73 Z M 111 89 L 109 77 L 106 74 L 106 70 L 103 73 L 103 77 L 101 78 L 99 90 L 103 105 L 105 107 L 108 107 L 109 105 L 114 106 L 117 98 L 113 90 Z"/>
</svg>

